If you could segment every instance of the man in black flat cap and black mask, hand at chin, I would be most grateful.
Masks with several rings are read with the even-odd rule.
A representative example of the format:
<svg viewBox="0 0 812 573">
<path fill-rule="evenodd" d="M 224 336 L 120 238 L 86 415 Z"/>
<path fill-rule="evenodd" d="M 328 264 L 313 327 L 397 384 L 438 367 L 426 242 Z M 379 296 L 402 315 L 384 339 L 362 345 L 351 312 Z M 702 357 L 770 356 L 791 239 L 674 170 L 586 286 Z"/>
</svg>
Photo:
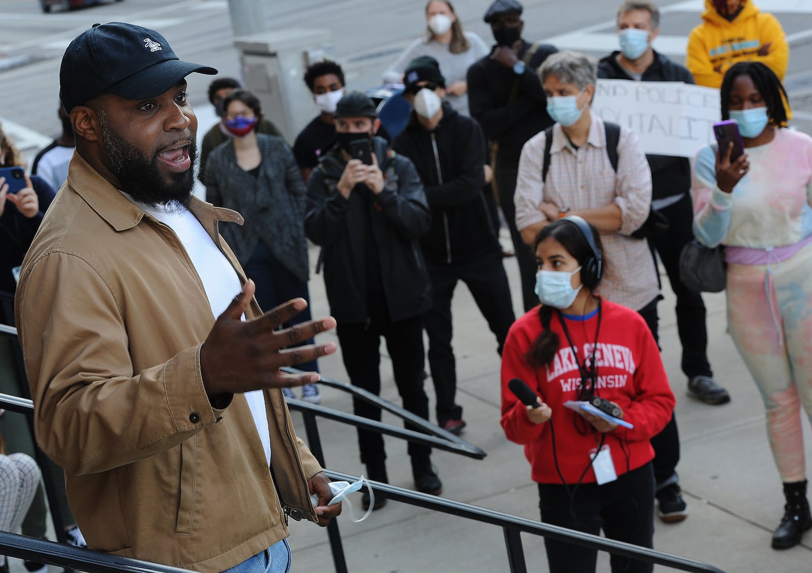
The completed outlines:
<svg viewBox="0 0 812 573">
<path fill-rule="evenodd" d="M 531 45 L 521 39 L 525 25 L 521 12 L 522 6 L 516 0 L 496 0 L 486 11 L 485 22 L 494 32 L 496 45 L 490 55 L 469 67 L 468 101 L 471 117 L 495 144 L 495 163 L 491 166 L 495 171 L 499 205 L 508 222 L 519 264 L 525 310 L 529 310 L 538 304 L 533 291 L 536 259 L 516 230 L 513 192 L 522 146 L 553 124 L 536 71 L 548 55 L 558 50 L 551 45 Z"/>
</svg>

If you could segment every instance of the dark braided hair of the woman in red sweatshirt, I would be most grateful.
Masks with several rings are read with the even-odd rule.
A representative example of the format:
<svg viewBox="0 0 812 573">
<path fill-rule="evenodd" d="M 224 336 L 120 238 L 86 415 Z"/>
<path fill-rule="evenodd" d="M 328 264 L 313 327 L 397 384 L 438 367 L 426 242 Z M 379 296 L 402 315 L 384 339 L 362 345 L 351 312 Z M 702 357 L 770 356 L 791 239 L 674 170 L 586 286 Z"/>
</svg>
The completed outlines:
<svg viewBox="0 0 812 573">
<path fill-rule="evenodd" d="M 598 230 L 591 225 L 590 229 L 592 230 L 595 247 L 603 253 L 603 244 Z M 578 261 L 578 265 L 583 265 L 584 261 L 592 256 L 592 249 L 590 244 L 586 242 L 586 237 L 577 226 L 570 222 L 556 221 L 544 226 L 542 230 L 538 231 L 536 241 L 533 243 L 533 252 L 536 252 L 538 245 L 546 239 L 555 239 L 561 243 L 561 246 L 569 255 Z M 583 283 L 583 280 L 581 282 Z M 597 286 L 597 284 L 591 286 L 584 284 L 584 288 L 589 289 L 590 292 Z M 538 318 L 542 321 L 542 334 L 538 335 L 533 347 L 525 355 L 525 360 L 537 368 L 551 364 L 555 358 L 555 353 L 559 351 L 561 342 L 559 335 L 555 330 L 551 329 L 554 310 L 555 308 L 545 304 L 538 307 Z"/>
</svg>

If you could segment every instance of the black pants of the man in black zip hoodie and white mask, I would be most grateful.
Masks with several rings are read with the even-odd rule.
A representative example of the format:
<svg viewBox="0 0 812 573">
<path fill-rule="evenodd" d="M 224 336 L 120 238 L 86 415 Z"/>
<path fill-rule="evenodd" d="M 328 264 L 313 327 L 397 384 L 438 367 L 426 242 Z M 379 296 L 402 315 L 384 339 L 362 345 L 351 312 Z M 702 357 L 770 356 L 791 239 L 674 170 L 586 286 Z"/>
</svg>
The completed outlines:
<svg viewBox="0 0 812 573">
<path fill-rule="evenodd" d="M 425 332 L 429 335 L 429 368 L 437 393 L 437 421 L 443 424 L 462 418 L 462 407 L 454 401 L 456 360 L 451 347 L 451 297 L 457 281 L 464 282 L 471 291 L 490 331 L 496 336 L 499 355 L 515 317 L 501 252 L 494 250 L 471 261 L 451 264 L 426 261 L 426 266 L 434 299 L 425 314 Z"/>
</svg>

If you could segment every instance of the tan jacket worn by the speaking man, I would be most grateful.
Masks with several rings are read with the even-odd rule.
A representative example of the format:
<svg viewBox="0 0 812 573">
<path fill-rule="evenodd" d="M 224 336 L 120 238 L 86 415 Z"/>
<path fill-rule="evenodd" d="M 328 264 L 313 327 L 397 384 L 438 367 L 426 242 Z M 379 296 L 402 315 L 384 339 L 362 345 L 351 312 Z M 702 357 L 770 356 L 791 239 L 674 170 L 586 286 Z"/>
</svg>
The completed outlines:
<svg viewBox="0 0 812 573">
<path fill-rule="evenodd" d="M 218 234 L 240 215 L 190 209 L 245 282 Z M 214 410 L 205 394 L 201 278 L 171 228 L 78 153 L 23 263 L 16 318 L 37 441 L 66 470 L 89 547 L 214 573 L 287 536 L 244 395 Z M 321 467 L 281 391 L 266 411 L 282 505 L 315 521 L 307 480 Z"/>
</svg>

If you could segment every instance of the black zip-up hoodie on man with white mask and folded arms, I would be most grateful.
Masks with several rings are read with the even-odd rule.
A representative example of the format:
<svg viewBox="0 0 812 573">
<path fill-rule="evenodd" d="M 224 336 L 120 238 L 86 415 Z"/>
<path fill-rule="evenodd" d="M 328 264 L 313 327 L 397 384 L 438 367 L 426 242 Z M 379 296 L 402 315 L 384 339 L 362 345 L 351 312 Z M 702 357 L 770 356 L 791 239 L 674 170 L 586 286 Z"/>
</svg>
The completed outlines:
<svg viewBox="0 0 812 573">
<path fill-rule="evenodd" d="M 470 261 L 501 250 L 483 195 L 485 136 L 475 119 L 443 102 L 443 118 L 426 131 L 412 110 L 392 148 L 412 160 L 431 208 L 429 232 L 420 239 L 427 261 Z"/>
</svg>

